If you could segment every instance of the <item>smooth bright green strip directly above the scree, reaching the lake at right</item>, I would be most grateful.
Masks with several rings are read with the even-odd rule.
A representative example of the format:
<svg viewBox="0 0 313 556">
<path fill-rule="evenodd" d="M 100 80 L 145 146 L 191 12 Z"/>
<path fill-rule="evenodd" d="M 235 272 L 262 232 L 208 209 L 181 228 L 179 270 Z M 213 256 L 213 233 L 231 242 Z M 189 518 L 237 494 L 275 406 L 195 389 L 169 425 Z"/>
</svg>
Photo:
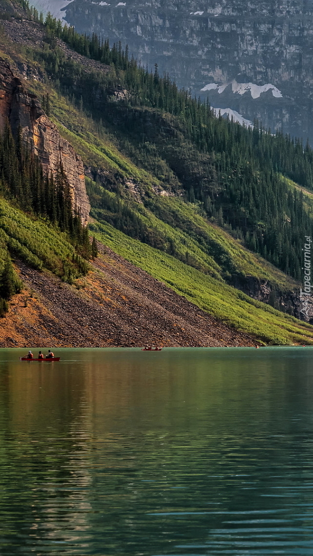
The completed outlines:
<svg viewBox="0 0 313 556">
<path fill-rule="evenodd" d="M 117 231 L 110 224 L 91 224 L 96 239 L 170 286 L 201 309 L 237 330 L 249 332 L 270 344 L 313 344 L 313 326 L 301 323 L 231 286 L 216 280 L 175 257 L 143 245 Z"/>
</svg>

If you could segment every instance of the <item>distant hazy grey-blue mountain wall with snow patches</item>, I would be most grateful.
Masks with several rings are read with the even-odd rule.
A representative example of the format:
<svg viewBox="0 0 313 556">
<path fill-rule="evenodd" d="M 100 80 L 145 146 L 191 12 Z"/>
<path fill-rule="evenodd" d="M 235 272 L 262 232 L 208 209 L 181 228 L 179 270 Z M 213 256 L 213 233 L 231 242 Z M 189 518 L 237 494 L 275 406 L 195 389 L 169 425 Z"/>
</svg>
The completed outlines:
<svg viewBox="0 0 313 556">
<path fill-rule="evenodd" d="M 62 12 L 59 0 L 33 3 L 77 31 L 128 43 L 213 106 L 313 145 L 312 0 L 73 0 Z"/>
</svg>

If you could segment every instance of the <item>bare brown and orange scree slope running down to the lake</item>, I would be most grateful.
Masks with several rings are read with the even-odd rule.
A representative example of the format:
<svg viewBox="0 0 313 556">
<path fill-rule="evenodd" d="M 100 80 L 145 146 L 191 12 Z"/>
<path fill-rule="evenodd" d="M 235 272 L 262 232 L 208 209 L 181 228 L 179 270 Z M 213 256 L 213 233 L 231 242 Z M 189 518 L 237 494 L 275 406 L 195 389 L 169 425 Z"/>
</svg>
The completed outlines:
<svg viewBox="0 0 313 556">
<path fill-rule="evenodd" d="M 23 292 L 13 298 L 6 326 L 0 332 L 0 345 L 255 345 L 251 336 L 222 324 L 122 257 L 106 251 L 76 287 L 60 284 L 52 275 L 17 262 L 31 296 Z M 311 334 L 313 340 L 313 329 Z"/>
</svg>

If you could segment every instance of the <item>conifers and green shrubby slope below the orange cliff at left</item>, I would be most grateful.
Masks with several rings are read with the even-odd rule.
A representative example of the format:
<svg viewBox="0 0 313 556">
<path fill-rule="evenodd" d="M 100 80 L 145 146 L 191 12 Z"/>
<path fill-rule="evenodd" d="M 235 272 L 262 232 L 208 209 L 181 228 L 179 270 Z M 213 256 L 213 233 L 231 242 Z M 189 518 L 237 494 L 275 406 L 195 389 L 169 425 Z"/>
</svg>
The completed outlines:
<svg viewBox="0 0 313 556">
<path fill-rule="evenodd" d="M 8 122 L 0 134 L 0 176 L 0 195 L 10 202 L 0 197 L 0 316 L 3 316 L 8 309 L 7 300 L 21 290 L 9 254 L 37 270 L 46 267 L 71 282 L 87 273 L 85 259 L 91 255 L 91 247 L 88 230 L 73 214 L 62 166 L 55 176 L 44 176 L 37 157 L 24 147 L 20 134 L 14 141 Z"/>
</svg>

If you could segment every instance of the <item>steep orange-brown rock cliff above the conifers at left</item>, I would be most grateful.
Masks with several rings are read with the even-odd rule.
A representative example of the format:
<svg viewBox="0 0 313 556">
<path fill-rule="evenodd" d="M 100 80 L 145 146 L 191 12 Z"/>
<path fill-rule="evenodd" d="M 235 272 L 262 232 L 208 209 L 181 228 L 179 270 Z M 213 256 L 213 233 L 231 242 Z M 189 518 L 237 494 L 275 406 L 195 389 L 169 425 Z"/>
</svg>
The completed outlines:
<svg viewBox="0 0 313 556">
<path fill-rule="evenodd" d="M 38 155 L 46 171 L 55 172 L 61 162 L 69 181 L 72 205 L 84 225 L 88 222 L 90 202 L 86 193 L 82 160 L 47 118 L 36 96 L 27 93 L 10 67 L 0 59 L 0 128 L 8 118 L 13 135 L 20 128 L 24 140 Z"/>
</svg>

